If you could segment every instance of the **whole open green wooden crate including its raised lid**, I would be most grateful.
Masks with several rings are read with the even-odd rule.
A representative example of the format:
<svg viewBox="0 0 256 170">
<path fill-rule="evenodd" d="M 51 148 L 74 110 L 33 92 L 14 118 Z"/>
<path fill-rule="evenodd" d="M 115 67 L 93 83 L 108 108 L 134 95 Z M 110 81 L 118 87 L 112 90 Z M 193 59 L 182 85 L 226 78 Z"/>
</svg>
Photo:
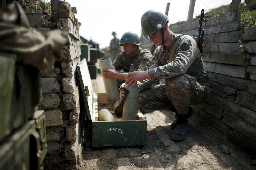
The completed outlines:
<svg viewBox="0 0 256 170">
<path fill-rule="evenodd" d="M 113 114 L 115 121 L 98 121 L 98 110 L 105 108 L 113 112 L 113 103 L 108 102 L 106 94 L 93 93 L 86 60 L 77 65 L 77 73 L 87 117 L 92 120 L 92 147 L 146 144 L 146 117 L 138 113 L 138 120 L 122 121 L 122 117 Z"/>
</svg>

